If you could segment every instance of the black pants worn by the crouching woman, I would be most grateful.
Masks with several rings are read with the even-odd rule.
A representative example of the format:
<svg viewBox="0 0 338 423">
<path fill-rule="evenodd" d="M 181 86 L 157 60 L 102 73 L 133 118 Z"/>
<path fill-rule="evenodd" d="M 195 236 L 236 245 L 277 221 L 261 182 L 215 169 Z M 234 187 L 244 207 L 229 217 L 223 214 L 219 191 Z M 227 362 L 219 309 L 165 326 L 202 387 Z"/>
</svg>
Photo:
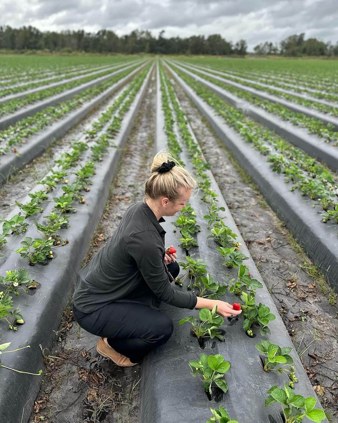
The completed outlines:
<svg viewBox="0 0 338 423">
<path fill-rule="evenodd" d="M 169 272 L 177 277 L 177 262 L 168 265 Z M 150 300 L 149 300 L 150 299 Z M 138 301 L 139 300 L 139 301 Z M 93 335 L 106 337 L 108 344 L 137 363 L 153 349 L 163 345 L 172 335 L 172 320 L 158 309 L 155 298 L 140 293 L 110 302 L 93 313 L 82 313 L 73 305 L 79 325 Z"/>
</svg>

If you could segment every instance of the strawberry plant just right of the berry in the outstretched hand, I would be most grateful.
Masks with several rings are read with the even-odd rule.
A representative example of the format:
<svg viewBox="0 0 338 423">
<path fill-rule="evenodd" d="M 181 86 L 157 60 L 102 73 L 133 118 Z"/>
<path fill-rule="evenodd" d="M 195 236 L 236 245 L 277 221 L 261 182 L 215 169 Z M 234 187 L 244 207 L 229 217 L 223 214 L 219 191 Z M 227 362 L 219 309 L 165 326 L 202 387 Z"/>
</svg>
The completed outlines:
<svg viewBox="0 0 338 423">
<path fill-rule="evenodd" d="M 241 305 L 243 317 L 243 329 L 249 336 L 253 336 L 252 327 L 258 327 L 259 332 L 262 336 L 267 333 L 271 333 L 267 327 L 270 321 L 275 320 L 276 316 L 270 313 L 270 308 L 266 305 L 259 303 L 256 305 L 255 297 L 249 296 L 246 292 L 242 292 L 241 299 L 243 305 Z"/>
</svg>

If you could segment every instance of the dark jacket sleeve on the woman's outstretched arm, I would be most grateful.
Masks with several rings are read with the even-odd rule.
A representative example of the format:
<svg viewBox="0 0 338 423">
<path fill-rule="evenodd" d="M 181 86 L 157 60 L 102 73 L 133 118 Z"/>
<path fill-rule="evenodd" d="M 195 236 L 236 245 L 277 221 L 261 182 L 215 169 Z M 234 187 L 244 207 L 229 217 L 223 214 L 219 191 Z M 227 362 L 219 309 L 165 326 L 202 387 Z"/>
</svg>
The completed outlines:
<svg viewBox="0 0 338 423">
<path fill-rule="evenodd" d="M 197 297 L 174 288 L 164 269 L 164 247 L 153 231 L 136 233 L 129 237 L 127 251 L 136 264 L 149 288 L 155 296 L 179 308 L 193 309 Z"/>
</svg>

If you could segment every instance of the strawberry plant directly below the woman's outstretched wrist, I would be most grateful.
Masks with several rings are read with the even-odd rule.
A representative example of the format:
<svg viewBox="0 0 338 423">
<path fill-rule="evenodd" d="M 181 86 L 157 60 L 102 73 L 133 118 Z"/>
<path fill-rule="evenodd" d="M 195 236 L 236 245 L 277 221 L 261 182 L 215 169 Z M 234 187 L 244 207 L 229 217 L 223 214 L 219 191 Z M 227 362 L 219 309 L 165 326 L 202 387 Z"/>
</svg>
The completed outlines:
<svg viewBox="0 0 338 423">
<path fill-rule="evenodd" d="M 181 319 L 178 324 L 183 324 L 187 321 L 190 322 L 192 325 L 191 332 L 196 336 L 199 343 L 202 338 L 213 339 L 216 337 L 220 341 L 224 341 L 224 336 L 221 335 L 222 331 L 218 329 L 224 323 L 224 319 L 217 314 L 217 305 L 211 311 L 208 308 L 201 308 L 199 310 L 199 320 L 201 323 L 198 323 L 194 316 L 188 316 Z"/>
</svg>

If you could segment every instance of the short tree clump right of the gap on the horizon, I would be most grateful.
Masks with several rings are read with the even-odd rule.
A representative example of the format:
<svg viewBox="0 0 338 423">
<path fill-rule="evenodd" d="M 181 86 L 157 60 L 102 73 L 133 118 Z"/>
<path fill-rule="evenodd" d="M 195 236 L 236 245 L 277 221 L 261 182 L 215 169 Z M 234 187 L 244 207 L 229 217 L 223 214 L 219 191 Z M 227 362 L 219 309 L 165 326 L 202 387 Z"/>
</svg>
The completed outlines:
<svg viewBox="0 0 338 423">
<path fill-rule="evenodd" d="M 331 41 L 324 43 L 317 38 L 305 40 L 305 33 L 301 33 L 290 35 L 279 45 L 269 41 L 257 44 L 254 47 L 254 52 L 258 55 L 338 56 L 338 42 L 333 45 Z"/>
</svg>

